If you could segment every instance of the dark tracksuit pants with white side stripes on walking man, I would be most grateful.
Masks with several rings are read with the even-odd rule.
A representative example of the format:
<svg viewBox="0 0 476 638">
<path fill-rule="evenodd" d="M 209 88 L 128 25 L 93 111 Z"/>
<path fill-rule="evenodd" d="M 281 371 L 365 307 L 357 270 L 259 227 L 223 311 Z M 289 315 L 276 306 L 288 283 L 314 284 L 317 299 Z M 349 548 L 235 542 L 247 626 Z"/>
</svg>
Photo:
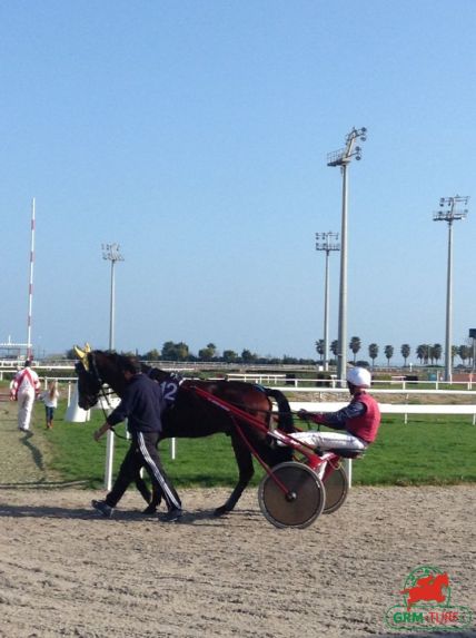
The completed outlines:
<svg viewBox="0 0 476 638">
<path fill-rule="evenodd" d="M 168 510 L 181 509 L 179 495 L 162 468 L 157 442 L 158 432 L 132 432 L 130 448 L 122 461 L 112 490 L 106 497 L 106 503 L 115 508 L 130 483 L 137 480 L 140 468 L 145 467 L 153 487 L 163 494 Z"/>
</svg>

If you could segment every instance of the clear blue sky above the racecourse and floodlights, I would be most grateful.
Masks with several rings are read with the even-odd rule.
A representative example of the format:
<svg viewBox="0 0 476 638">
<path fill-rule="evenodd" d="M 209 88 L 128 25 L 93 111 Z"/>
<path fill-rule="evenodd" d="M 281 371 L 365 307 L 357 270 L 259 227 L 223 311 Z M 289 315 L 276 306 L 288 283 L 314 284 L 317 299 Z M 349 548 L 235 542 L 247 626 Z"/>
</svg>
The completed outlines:
<svg viewBox="0 0 476 638">
<path fill-rule="evenodd" d="M 440 197 L 475 194 L 473 0 L 0 3 L 0 341 L 63 352 L 185 341 L 313 357 L 326 165 L 355 126 L 348 340 L 445 342 Z M 474 199 L 454 229 L 453 343 L 476 327 Z M 330 338 L 337 337 L 337 254 Z M 397 357 L 396 357 L 397 359 Z"/>
</svg>

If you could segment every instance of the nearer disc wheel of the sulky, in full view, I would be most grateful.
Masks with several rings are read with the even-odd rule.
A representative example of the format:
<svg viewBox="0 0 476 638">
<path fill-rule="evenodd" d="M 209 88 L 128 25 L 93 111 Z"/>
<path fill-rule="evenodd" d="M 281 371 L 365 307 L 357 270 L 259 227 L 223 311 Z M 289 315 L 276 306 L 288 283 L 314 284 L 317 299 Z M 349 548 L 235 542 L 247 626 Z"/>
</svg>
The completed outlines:
<svg viewBox="0 0 476 638">
<path fill-rule="evenodd" d="M 307 465 L 289 461 L 272 468 L 259 484 L 258 502 L 277 528 L 307 528 L 324 509 L 326 490 Z"/>
</svg>

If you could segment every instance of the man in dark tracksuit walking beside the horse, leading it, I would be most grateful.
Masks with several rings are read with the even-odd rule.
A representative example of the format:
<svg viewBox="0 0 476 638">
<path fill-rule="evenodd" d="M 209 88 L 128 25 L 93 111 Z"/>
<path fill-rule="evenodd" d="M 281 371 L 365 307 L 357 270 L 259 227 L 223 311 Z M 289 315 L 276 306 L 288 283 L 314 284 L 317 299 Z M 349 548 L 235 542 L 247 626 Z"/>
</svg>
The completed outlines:
<svg viewBox="0 0 476 638">
<path fill-rule="evenodd" d="M 110 518 L 113 509 L 130 483 L 137 480 L 140 468 L 148 471 L 153 487 L 163 494 L 168 513 L 165 520 L 175 521 L 181 516 L 180 499 L 167 478 L 157 451 L 162 430 L 160 413 L 163 396 L 160 385 L 140 372 L 140 364 L 133 359 L 123 365 L 127 387 L 119 405 L 93 434 L 99 439 L 113 425 L 128 419 L 131 444 L 119 470 L 119 474 L 103 501 L 92 501 L 92 507 Z"/>
</svg>

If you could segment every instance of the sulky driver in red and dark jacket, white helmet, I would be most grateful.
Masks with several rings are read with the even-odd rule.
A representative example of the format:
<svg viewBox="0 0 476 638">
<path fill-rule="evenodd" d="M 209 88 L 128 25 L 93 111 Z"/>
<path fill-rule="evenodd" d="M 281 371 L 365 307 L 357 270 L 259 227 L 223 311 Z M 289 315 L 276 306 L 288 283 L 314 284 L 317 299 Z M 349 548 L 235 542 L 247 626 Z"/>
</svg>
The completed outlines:
<svg viewBox="0 0 476 638">
<path fill-rule="evenodd" d="M 378 403 L 365 391 L 370 385 L 368 370 L 351 367 L 347 373 L 351 401 L 346 408 L 328 413 L 298 412 L 299 419 L 327 425 L 338 432 L 299 432 L 292 436 L 320 450 L 366 450 L 375 441 L 380 425 Z"/>
</svg>

